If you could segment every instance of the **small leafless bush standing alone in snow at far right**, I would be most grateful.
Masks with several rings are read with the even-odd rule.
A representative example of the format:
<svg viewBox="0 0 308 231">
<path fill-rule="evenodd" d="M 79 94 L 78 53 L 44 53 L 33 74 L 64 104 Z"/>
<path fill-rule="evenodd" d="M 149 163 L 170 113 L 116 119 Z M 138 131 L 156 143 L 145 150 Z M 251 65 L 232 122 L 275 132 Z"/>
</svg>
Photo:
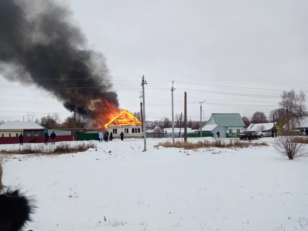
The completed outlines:
<svg viewBox="0 0 308 231">
<path fill-rule="evenodd" d="M 289 160 L 307 156 L 305 144 L 296 142 L 296 136 L 278 136 L 272 141 L 272 144 L 277 153 L 287 156 Z"/>
</svg>

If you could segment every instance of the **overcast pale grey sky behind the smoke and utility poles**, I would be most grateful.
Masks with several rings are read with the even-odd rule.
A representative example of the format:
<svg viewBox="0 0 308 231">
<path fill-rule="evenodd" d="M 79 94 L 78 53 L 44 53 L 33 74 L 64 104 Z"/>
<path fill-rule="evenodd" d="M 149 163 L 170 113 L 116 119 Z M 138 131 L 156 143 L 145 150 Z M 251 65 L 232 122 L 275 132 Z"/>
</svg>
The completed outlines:
<svg viewBox="0 0 308 231">
<path fill-rule="evenodd" d="M 257 110 L 268 115 L 278 107 L 281 91 L 250 88 L 293 87 L 308 92 L 308 1 L 71 0 L 66 4 L 89 47 L 106 56 L 121 108 L 140 110 L 141 75 L 146 76 L 147 120 L 171 117 L 172 80 L 175 113 L 184 112 L 186 90 L 192 119 L 200 116 L 198 102 L 205 99 L 205 119 L 211 113 L 250 117 Z M 37 87 L 18 87 L 22 84 L 2 77 L 0 85 L 0 120 L 22 120 L 24 111 L 60 112 L 61 119 L 70 115 L 61 102 Z"/>
</svg>

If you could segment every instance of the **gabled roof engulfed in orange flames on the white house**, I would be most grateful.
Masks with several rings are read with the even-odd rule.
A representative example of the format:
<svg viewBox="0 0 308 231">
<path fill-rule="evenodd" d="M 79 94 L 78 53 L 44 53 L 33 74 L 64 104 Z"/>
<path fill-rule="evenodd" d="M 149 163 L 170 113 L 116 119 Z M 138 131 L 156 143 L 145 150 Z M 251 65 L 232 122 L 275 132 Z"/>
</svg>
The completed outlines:
<svg viewBox="0 0 308 231">
<path fill-rule="evenodd" d="M 112 118 L 109 123 L 105 125 L 107 126 L 140 126 L 141 121 L 133 115 L 128 110 L 124 110 L 120 112 L 120 115 Z"/>
</svg>

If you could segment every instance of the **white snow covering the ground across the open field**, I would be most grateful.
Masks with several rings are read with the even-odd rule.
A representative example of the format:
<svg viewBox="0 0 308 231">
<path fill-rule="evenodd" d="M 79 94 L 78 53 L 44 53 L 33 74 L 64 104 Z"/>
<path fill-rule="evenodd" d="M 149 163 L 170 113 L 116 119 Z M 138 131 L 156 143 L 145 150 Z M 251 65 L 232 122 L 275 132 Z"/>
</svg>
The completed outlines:
<svg viewBox="0 0 308 231">
<path fill-rule="evenodd" d="M 163 140 L 148 139 L 147 152 L 143 140 L 127 139 L 95 141 L 98 150 L 83 153 L 5 156 L 4 184 L 22 184 L 36 196 L 39 208 L 27 227 L 34 231 L 289 231 L 303 229 L 299 221 L 306 225 L 308 158 L 289 161 L 271 146 L 154 148 Z M 117 222 L 124 225 L 111 226 Z"/>
</svg>

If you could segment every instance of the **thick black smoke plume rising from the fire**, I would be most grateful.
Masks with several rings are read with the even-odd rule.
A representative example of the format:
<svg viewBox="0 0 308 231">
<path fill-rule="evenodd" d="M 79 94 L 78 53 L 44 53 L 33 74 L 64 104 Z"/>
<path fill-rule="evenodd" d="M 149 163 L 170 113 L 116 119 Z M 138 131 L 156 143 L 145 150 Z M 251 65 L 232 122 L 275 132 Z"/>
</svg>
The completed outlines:
<svg viewBox="0 0 308 231">
<path fill-rule="evenodd" d="M 87 49 L 70 10 L 51 0 L 0 0 L 0 73 L 91 118 L 119 106 L 104 56 Z"/>
</svg>

